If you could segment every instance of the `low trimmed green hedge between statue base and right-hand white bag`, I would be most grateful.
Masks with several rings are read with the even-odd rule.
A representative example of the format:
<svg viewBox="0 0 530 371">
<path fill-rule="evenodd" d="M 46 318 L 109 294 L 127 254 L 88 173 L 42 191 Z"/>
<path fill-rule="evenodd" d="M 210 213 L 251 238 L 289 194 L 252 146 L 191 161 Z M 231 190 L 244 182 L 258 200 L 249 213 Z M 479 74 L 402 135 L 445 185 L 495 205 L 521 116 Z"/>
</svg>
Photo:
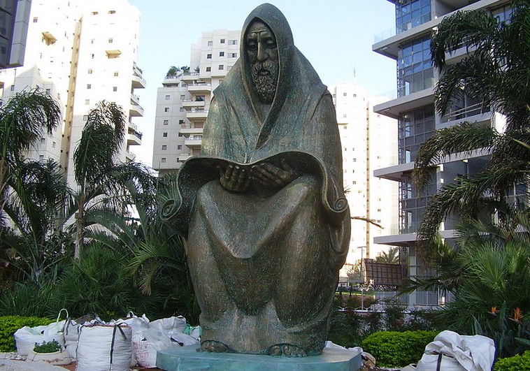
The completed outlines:
<svg viewBox="0 0 530 371">
<path fill-rule="evenodd" d="M 401 368 L 420 361 L 425 346 L 437 334 L 434 331 L 381 331 L 366 337 L 361 347 L 375 357 L 378 366 Z"/>
</svg>

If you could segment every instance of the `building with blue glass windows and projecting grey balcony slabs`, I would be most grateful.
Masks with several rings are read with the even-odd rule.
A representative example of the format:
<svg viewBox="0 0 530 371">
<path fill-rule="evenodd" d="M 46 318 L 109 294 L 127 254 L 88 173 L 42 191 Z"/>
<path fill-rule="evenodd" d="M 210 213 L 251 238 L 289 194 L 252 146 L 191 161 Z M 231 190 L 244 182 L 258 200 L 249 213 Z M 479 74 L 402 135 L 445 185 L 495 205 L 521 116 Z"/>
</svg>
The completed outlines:
<svg viewBox="0 0 530 371">
<path fill-rule="evenodd" d="M 436 130 L 464 120 L 495 126 L 502 130 L 504 119 L 485 109 L 479 102 L 465 98 L 441 117 L 434 109 L 433 88 L 438 72 L 431 66 L 430 36 L 443 17 L 457 10 L 484 9 L 501 19 L 509 14 L 506 0 L 389 0 L 396 5 L 396 24 L 392 36 L 376 39 L 373 51 L 396 60 L 396 98 L 374 106 L 373 110 L 398 122 L 398 152 L 396 162 L 375 170 L 382 179 L 399 184 L 399 219 L 395 228 L 375 238 L 375 243 L 399 246 L 408 261 L 411 277 L 428 277 L 434 272 L 417 259 L 416 231 L 422 221 L 425 205 L 437 189 L 451 182 L 457 175 L 472 175 L 485 166 L 487 155 L 475 152 L 470 156 L 455 154 L 433 170 L 431 183 L 425 191 L 413 187 L 411 172 L 417 151 Z M 456 63 L 468 50 L 465 46 L 447 54 L 447 62 Z M 443 238 L 454 236 L 456 215 L 441 225 Z M 436 292 L 415 292 L 408 297 L 410 305 L 438 305 L 445 301 Z"/>
</svg>

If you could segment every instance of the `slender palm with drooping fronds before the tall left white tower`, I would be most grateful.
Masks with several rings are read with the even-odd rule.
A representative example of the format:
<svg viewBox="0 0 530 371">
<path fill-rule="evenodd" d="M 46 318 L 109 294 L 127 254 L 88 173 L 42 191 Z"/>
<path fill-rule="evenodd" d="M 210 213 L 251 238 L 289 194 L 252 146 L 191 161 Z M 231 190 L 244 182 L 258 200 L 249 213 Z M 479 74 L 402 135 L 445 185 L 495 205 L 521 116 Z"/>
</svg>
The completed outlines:
<svg viewBox="0 0 530 371">
<path fill-rule="evenodd" d="M 114 176 L 125 135 L 127 119 L 116 103 L 101 101 L 87 115 L 87 122 L 73 153 L 74 173 L 78 184 L 76 194 L 76 246 L 74 258 L 80 259 L 85 228 L 95 224 L 86 219 L 88 210 L 111 208 L 122 212 L 122 200 L 110 197 L 121 187 Z"/>
</svg>

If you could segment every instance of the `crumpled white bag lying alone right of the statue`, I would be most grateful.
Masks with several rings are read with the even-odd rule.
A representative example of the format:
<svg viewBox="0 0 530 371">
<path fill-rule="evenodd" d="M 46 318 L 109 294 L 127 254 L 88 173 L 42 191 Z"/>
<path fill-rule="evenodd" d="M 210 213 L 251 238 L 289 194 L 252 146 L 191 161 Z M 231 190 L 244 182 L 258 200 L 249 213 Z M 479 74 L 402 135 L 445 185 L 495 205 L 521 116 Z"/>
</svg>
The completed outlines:
<svg viewBox="0 0 530 371">
<path fill-rule="evenodd" d="M 417 371 L 490 371 L 495 344 L 481 335 L 459 335 L 445 330 L 427 344 Z"/>
</svg>

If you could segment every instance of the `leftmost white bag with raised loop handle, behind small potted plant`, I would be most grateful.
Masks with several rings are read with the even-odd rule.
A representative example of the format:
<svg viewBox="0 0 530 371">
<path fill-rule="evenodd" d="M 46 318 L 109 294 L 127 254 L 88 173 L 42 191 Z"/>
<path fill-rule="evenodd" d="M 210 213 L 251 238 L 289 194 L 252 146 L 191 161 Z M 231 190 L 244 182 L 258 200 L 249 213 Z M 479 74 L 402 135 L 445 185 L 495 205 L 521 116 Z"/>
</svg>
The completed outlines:
<svg viewBox="0 0 530 371">
<path fill-rule="evenodd" d="M 59 321 L 63 311 L 66 312 L 66 317 L 68 317 L 68 311 L 62 309 L 59 311 L 57 321 L 49 325 L 35 327 L 24 326 L 16 330 L 13 336 L 15 337 L 17 354 L 27 356 L 33 351 L 35 343 L 51 342 L 53 340 L 57 340 L 59 345 L 64 348 L 63 328 L 66 321 Z"/>
</svg>

